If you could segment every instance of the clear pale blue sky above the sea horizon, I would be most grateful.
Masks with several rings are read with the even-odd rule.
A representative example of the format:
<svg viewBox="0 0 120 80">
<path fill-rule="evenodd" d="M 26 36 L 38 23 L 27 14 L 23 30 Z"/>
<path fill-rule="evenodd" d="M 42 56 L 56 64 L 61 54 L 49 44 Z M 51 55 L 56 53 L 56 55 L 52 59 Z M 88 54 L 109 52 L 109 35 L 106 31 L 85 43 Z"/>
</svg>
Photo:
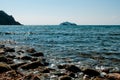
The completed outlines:
<svg viewBox="0 0 120 80">
<path fill-rule="evenodd" d="M 0 10 L 25 25 L 120 25 L 120 0 L 0 0 Z"/>
</svg>

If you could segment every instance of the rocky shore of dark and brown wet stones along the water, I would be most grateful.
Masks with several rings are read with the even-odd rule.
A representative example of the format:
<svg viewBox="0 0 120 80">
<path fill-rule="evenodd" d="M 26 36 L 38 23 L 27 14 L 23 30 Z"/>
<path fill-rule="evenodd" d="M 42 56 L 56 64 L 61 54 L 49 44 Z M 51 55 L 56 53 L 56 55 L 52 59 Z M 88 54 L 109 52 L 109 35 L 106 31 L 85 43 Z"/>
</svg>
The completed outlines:
<svg viewBox="0 0 120 80">
<path fill-rule="evenodd" d="M 34 48 L 0 45 L 0 80 L 120 80 L 120 70 L 94 69 L 74 64 L 49 67 L 44 53 Z"/>
</svg>

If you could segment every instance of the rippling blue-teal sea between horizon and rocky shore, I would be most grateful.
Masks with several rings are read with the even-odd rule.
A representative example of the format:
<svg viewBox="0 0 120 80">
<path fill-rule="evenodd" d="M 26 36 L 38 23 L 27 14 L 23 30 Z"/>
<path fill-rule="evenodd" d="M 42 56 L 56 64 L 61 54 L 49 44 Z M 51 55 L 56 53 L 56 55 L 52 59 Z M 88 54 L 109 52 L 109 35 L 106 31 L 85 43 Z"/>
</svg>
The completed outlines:
<svg viewBox="0 0 120 80">
<path fill-rule="evenodd" d="M 75 64 L 120 70 L 120 25 L 1 25 L 0 44 L 35 48 L 50 67 Z"/>
</svg>

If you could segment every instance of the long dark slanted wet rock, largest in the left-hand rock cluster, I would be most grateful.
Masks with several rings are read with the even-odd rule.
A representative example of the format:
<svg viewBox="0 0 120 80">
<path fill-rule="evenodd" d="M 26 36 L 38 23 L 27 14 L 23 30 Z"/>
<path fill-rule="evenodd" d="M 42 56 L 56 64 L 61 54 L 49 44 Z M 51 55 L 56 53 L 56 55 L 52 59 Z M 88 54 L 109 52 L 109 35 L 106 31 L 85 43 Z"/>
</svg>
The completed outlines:
<svg viewBox="0 0 120 80">
<path fill-rule="evenodd" d="M 22 65 L 22 66 L 20 66 L 20 68 L 28 70 L 28 69 L 35 69 L 39 66 L 44 66 L 44 64 L 41 63 L 41 61 L 35 61 L 35 62 L 32 62 L 32 63 Z"/>
</svg>

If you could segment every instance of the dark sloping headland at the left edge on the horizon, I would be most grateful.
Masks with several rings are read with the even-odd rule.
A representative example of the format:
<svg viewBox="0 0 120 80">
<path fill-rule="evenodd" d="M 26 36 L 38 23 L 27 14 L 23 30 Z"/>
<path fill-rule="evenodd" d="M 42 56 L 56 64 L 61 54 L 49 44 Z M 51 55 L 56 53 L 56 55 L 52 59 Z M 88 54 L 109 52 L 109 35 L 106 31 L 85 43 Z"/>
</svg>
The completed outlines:
<svg viewBox="0 0 120 80">
<path fill-rule="evenodd" d="M 15 21 L 12 15 L 8 15 L 4 11 L 0 10 L 0 25 L 21 25 L 21 24 Z"/>
</svg>

